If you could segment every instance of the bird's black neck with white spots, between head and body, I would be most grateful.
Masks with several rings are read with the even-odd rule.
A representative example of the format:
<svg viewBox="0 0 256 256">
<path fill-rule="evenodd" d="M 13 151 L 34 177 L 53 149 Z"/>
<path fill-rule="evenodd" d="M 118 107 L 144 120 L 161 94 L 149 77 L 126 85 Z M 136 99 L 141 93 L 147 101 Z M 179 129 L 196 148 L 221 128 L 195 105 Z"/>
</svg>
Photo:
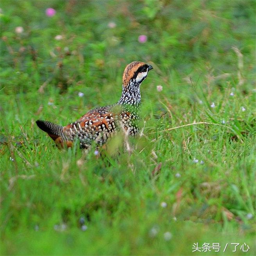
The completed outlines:
<svg viewBox="0 0 256 256">
<path fill-rule="evenodd" d="M 140 100 L 140 84 L 132 82 L 128 86 L 123 86 L 122 96 L 118 103 L 139 106 Z"/>
</svg>

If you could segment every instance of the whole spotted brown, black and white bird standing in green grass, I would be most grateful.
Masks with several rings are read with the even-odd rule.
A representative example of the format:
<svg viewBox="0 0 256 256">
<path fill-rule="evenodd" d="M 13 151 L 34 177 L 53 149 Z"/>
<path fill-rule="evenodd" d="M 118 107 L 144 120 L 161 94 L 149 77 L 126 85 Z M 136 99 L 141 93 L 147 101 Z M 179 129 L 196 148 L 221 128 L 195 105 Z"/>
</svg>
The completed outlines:
<svg viewBox="0 0 256 256">
<path fill-rule="evenodd" d="M 37 120 L 36 124 L 59 148 L 72 147 L 76 140 L 82 149 L 88 149 L 92 143 L 102 146 L 120 129 L 135 136 L 139 132 L 140 85 L 152 69 L 150 64 L 140 61 L 128 64 L 122 77 L 122 95 L 115 104 L 91 109 L 66 126 L 44 120 Z"/>
</svg>

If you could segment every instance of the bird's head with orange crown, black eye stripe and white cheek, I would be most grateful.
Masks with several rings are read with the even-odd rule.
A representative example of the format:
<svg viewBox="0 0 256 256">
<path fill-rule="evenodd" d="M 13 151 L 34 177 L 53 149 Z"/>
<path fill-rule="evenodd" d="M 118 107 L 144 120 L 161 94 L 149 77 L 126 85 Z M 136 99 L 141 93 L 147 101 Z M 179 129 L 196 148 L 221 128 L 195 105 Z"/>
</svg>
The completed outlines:
<svg viewBox="0 0 256 256">
<path fill-rule="evenodd" d="M 127 88 L 131 84 L 140 86 L 141 82 L 144 81 L 151 69 L 153 69 L 151 65 L 140 61 L 133 61 L 127 65 L 123 75 L 124 88 Z"/>
</svg>

